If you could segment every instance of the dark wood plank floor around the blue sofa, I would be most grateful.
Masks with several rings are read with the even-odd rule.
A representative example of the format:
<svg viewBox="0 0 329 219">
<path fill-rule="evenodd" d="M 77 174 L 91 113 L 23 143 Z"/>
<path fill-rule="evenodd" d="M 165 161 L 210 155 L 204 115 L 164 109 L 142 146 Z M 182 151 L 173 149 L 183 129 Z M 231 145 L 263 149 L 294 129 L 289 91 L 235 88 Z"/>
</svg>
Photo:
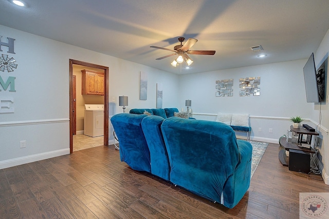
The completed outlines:
<svg viewBox="0 0 329 219">
<path fill-rule="evenodd" d="M 233 209 L 213 204 L 120 162 L 114 146 L 0 170 L 0 218 L 299 218 L 299 192 L 329 192 L 291 172 L 269 144 Z M 315 179 L 317 178 L 317 179 Z"/>
</svg>

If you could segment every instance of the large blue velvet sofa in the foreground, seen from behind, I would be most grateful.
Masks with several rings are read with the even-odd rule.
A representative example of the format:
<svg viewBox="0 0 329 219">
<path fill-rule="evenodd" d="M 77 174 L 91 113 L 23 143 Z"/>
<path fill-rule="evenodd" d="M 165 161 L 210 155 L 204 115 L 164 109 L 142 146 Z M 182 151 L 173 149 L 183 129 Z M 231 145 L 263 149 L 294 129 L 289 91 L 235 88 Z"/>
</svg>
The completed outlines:
<svg viewBox="0 0 329 219">
<path fill-rule="evenodd" d="M 121 161 L 132 169 L 150 172 L 228 208 L 239 203 L 249 188 L 251 144 L 236 140 L 226 124 L 125 113 L 114 115 L 111 122 Z"/>
</svg>

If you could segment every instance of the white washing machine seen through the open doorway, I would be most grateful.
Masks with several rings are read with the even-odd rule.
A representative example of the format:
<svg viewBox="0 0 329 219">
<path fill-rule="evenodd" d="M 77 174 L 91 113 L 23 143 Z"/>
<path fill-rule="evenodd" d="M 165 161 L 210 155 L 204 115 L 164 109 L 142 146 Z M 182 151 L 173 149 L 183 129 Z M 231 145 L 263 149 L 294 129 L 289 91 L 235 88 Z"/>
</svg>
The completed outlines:
<svg viewBox="0 0 329 219">
<path fill-rule="evenodd" d="M 84 134 L 97 137 L 104 135 L 104 105 L 84 105 Z"/>
</svg>

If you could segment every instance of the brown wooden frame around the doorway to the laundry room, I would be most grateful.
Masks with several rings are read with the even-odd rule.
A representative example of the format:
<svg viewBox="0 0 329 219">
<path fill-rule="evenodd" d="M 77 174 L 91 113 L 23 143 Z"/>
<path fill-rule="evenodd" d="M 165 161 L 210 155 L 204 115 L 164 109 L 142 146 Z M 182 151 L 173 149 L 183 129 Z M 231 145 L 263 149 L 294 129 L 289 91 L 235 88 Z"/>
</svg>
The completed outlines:
<svg viewBox="0 0 329 219">
<path fill-rule="evenodd" d="M 73 152 L 73 65 L 104 70 L 104 145 L 108 146 L 108 67 L 69 59 L 70 153 Z"/>
</svg>

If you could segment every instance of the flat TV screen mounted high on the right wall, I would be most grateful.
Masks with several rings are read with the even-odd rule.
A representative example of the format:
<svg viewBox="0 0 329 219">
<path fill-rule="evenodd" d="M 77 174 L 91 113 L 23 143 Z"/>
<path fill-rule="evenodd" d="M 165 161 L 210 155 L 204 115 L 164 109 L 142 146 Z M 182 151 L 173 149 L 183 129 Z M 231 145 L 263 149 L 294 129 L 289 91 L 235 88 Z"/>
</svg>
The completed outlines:
<svg viewBox="0 0 329 219">
<path fill-rule="evenodd" d="M 304 80 L 306 90 L 306 101 L 307 103 L 319 103 L 319 92 L 317 83 L 317 72 L 314 62 L 314 54 L 312 53 L 304 68 Z"/>
</svg>

